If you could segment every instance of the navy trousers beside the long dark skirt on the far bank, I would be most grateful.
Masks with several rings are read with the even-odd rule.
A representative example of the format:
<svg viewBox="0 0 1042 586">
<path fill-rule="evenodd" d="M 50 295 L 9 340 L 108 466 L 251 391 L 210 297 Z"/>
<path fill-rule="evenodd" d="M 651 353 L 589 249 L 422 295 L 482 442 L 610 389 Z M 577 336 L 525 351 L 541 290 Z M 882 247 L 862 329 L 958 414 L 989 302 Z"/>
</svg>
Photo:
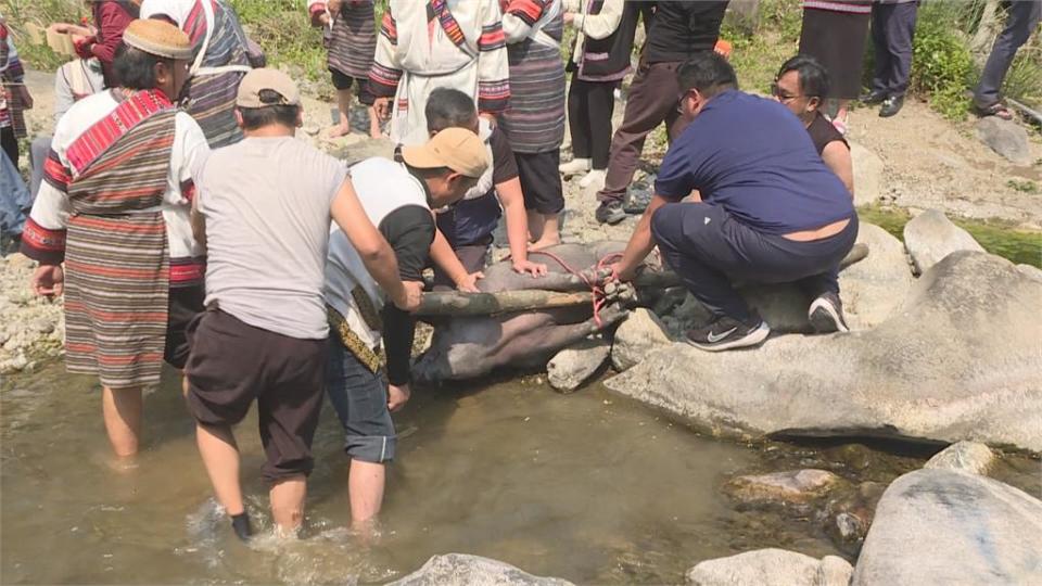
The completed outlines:
<svg viewBox="0 0 1042 586">
<path fill-rule="evenodd" d="M 907 91 L 918 10 L 918 1 L 872 5 L 872 44 L 876 50 L 873 90 L 888 95 Z"/>
</svg>

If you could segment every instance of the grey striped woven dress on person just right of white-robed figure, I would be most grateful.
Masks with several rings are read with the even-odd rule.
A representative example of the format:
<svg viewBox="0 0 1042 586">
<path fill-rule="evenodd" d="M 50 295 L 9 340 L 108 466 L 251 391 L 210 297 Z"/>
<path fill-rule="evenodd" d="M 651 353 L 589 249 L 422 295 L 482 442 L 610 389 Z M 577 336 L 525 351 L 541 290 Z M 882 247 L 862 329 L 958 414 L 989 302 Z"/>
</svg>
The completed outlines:
<svg viewBox="0 0 1042 586">
<path fill-rule="evenodd" d="M 560 0 L 511 0 L 504 11 L 510 109 L 503 129 L 517 153 L 552 151 L 564 139 Z"/>
</svg>

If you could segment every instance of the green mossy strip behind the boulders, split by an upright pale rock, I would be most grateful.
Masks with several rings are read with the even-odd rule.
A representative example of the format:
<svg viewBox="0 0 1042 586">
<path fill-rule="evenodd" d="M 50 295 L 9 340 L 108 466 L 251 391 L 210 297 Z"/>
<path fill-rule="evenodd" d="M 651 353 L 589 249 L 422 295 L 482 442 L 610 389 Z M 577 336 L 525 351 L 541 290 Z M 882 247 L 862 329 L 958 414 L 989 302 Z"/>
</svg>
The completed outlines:
<svg viewBox="0 0 1042 586">
<path fill-rule="evenodd" d="M 862 221 L 879 226 L 902 242 L 904 241 L 904 225 L 912 219 L 907 209 L 877 205 L 860 207 L 857 217 Z M 981 221 L 965 218 L 951 218 L 951 220 L 969 232 L 991 254 L 999 255 L 1018 265 L 1025 264 L 1042 268 L 1042 232 L 1017 230 L 1003 221 Z"/>
</svg>

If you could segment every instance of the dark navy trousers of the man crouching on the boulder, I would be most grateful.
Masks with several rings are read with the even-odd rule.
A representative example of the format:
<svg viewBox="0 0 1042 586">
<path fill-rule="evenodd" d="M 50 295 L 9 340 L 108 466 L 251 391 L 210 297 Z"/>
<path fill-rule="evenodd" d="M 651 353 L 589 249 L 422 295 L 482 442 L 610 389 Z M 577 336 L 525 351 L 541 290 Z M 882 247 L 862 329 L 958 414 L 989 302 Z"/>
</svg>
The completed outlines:
<svg viewBox="0 0 1042 586">
<path fill-rule="evenodd" d="M 691 295 L 716 316 L 746 320 L 749 306 L 732 279 L 796 282 L 811 297 L 839 293 L 839 263 L 857 238 L 857 216 L 838 234 L 796 242 L 758 232 L 719 205 L 673 203 L 655 213 L 651 233 Z"/>
</svg>

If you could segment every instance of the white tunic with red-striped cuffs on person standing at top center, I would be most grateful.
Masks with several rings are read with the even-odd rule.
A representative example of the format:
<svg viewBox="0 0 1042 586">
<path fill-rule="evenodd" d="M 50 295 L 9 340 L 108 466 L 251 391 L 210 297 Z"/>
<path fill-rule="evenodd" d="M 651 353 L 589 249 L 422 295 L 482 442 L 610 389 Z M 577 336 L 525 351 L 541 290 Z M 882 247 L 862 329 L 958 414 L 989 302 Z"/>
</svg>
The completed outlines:
<svg viewBox="0 0 1042 586">
<path fill-rule="evenodd" d="M 492 122 L 507 109 L 510 72 L 500 18 L 497 2 L 391 0 L 369 73 L 377 113 L 391 116 L 391 140 L 427 141 L 424 107 L 434 88 L 467 93 Z"/>
</svg>

